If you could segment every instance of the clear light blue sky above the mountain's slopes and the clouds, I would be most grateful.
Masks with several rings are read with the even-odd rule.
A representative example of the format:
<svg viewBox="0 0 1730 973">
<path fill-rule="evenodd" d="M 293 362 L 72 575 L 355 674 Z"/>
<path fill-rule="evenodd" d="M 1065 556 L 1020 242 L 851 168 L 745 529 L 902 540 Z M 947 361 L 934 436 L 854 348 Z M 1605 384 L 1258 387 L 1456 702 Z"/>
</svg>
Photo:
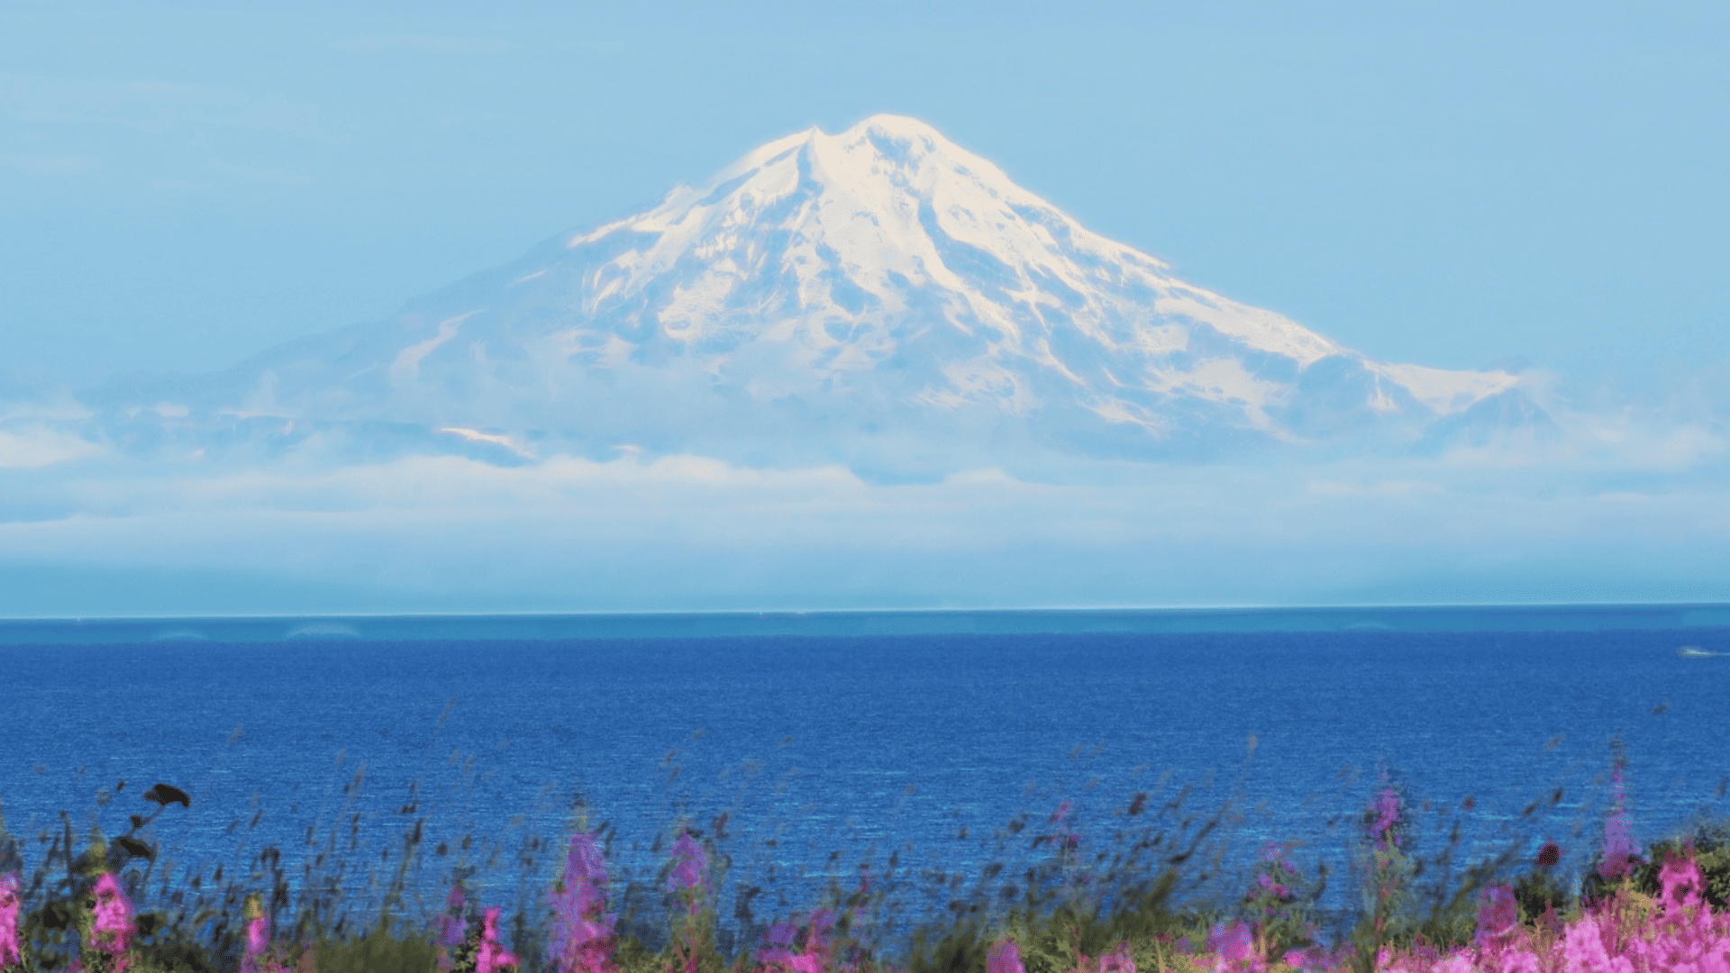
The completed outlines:
<svg viewBox="0 0 1730 973">
<path fill-rule="evenodd" d="M 0 5 L 0 367 L 218 369 L 879 111 L 1382 360 L 1730 362 L 1721 3 L 355 7 Z"/>
</svg>

